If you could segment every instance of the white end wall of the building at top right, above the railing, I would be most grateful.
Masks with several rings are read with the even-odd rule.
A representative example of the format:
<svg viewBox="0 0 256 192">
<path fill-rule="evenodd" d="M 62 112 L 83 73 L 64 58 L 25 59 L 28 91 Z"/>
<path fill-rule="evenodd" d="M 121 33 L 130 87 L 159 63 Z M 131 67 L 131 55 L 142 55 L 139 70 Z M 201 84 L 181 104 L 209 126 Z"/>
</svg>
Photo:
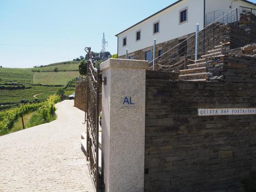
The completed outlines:
<svg viewBox="0 0 256 192">
<path fill-rule="evenodd" d="M 205 13 L 210 13 L 212 11 L 216 11 L 216 10 L 220 10 L 223 11 L 225 13 L 228 13 L 229 11 L 231 11 L 232 9 L 235 9 L 239 6 L 243 6 L 243 7 L 250 7 L 250 8 L 255 8 L 256 6 L 253 6 L 249 3 L 243 2 L 241 0 L 238 0 L 237 2 L 233 2 L 232 3 L 232 9 L 229 7 L 231 6 L 231 0 L 205 0 Z"/>
</svg>

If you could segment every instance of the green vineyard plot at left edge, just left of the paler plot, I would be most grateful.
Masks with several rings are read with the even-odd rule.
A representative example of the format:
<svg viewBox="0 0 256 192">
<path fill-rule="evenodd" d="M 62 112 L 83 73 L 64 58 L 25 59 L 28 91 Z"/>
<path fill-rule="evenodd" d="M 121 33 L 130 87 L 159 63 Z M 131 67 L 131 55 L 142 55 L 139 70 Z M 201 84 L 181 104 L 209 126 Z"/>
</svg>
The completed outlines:
<svg viewBox="0 0 256 192">
<path fill-rule="evenodd" d="M 33 72 L 29 69 L 0 68 L 0 83 L 33 83 Z"/>
</svg>

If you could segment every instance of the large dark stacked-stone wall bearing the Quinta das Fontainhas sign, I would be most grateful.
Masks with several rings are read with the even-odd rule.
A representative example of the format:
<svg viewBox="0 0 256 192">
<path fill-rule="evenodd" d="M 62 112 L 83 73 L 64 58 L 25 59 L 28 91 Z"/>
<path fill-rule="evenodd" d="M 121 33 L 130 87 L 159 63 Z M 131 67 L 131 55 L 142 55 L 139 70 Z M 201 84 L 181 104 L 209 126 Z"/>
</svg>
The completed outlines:
<svg viewBox="0 0 256 192">
<path fill-rule="evenodd" d="M 146 79 L 144 191 L 244 191 L 256 172 L 256 117 L 198 108 L 256 108 L 256 83 Z"/>
</svg>

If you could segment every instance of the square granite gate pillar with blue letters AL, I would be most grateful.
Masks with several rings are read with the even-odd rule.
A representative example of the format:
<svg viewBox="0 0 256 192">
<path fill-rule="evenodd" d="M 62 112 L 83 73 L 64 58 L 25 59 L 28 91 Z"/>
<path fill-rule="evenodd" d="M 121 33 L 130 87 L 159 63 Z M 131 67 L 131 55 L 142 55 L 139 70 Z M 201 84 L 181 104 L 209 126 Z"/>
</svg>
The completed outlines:
<svg viewBox="0 0 256 192">
<path fill-rule="evenodd" d="M 109 59 L 102 78 L 102 154 L 106 192 L 144 191 L 147 61 Z"/>
</svg>

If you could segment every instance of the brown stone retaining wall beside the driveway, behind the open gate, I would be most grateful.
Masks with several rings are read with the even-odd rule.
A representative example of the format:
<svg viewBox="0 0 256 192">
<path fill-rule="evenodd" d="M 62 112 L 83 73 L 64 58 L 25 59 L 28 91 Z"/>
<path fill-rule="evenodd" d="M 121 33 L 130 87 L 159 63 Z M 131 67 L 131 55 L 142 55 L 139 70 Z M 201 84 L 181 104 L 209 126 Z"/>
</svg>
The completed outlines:
<svg viewBox="0 0 256 192">
<path fill-rule="evenodd" d="M 87 106 L 87 80 L 79 81 L 76 83 L 75 92 L 75 107 L 86 111 Z"/>
</svg>

